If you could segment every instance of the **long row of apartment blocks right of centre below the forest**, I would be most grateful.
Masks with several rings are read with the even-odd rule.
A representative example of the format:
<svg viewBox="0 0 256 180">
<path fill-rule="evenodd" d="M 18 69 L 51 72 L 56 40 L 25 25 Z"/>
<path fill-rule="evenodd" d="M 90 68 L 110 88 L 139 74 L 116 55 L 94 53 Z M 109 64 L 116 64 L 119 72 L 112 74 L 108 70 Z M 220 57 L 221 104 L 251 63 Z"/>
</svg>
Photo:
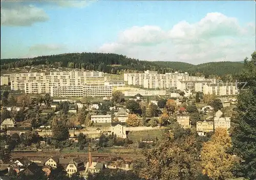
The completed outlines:
<svg viewBox="0 0 256 180">
<path fill-rule="evenodd" d="M 157 74 L 157 72 L 145 71 L 144 73 L 128 73 L 124 74 L 124 81 L 128 85 L 140 85 L 144 88 L 178 88 L 178 81 L 208 81 L 216 83 L 216 79 L 206 79 L 205 77 L 189 76 L 186 73 L 165 73 Z M 180 86 L 179 86 L 180 87 Z"/>
</svg>

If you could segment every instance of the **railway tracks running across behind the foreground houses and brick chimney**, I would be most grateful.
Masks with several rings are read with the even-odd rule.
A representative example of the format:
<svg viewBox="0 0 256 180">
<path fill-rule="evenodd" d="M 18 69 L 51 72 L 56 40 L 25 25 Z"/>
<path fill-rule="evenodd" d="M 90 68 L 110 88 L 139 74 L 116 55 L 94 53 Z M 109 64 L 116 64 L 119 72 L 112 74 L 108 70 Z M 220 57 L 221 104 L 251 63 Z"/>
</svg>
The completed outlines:
<svg viewBox="0 0 256 180">
<path fill-rule="evenodd" d="M 11 152 L 11 156 L 13 157 L 50 157 L 53 155 L 63 155 L 69 157 L 80 157 L 80 158 L 87 158 L 88 153 L 61 153 L 61 152 Z M 93 158 L 126 158 L 126 159 L 133 159 L 137 160 L 142 158 L 137 154 L 108 154 L 108 153 L 92 153 Z"/>
</svg>

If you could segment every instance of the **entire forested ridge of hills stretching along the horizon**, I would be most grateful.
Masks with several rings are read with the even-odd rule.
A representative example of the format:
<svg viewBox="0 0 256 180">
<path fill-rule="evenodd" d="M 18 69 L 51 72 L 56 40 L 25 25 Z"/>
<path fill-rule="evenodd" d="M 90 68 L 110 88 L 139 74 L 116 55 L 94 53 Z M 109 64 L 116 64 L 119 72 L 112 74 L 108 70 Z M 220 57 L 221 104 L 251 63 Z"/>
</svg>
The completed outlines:
<svg viewBox="0 0 256 180">
<path fill-rule="evenodd" d="M 1 69 L 18 68 L 26 65 L 46 64 L 57 67 L 78 68 L 106 73 L 143 72 L 144 70 L 165 72 L 188 72 L 191 75 L 234 75 L 242 68 L 241 62 L 208 62 L 199 65 L 185 62 L 141 61 L 118 54 L 70 53 L 39 56 L 27 59 L 1 59 Z"/>
</svg>

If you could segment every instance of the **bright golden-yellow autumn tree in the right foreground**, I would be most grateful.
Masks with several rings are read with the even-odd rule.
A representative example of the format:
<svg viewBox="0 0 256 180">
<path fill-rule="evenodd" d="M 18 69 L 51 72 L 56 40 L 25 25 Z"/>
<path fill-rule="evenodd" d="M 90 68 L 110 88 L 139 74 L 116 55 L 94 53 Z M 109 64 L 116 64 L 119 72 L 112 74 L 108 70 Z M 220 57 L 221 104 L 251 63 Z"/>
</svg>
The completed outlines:
<svg viewBox="0 0 256 180">
<path fill-rule="evenodd" d="M 201 152 L 203 174 L 211 179 L 224 180 L 232 173 L 233 156 L 228 154 L 231 147 L 231 138 L 225 128 L 216 128 L 211 140 L 204 143 Z"/>
</svg>

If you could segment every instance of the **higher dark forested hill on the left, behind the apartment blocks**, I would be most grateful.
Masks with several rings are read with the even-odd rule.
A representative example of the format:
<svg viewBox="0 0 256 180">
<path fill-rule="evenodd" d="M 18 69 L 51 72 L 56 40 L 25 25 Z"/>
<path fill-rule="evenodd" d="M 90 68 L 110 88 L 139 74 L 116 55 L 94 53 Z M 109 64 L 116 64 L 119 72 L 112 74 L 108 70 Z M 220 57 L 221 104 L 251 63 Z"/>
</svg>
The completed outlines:
<svg viewBox="0 0 256 180">
<path fill-rule="evenodd" d="M 118 54 L 105 53 L 70 53 L 51 56 L 39 56 L 27 59 L 1 59 L 1 69 L 17 68 L 26 65 L 47 64 L 54 67 L 78 68 L 106 73 L 143 72 L 144 70 L 159 73 L 174 71 L 154 62 L 141 61 Z"/>
</svg>

